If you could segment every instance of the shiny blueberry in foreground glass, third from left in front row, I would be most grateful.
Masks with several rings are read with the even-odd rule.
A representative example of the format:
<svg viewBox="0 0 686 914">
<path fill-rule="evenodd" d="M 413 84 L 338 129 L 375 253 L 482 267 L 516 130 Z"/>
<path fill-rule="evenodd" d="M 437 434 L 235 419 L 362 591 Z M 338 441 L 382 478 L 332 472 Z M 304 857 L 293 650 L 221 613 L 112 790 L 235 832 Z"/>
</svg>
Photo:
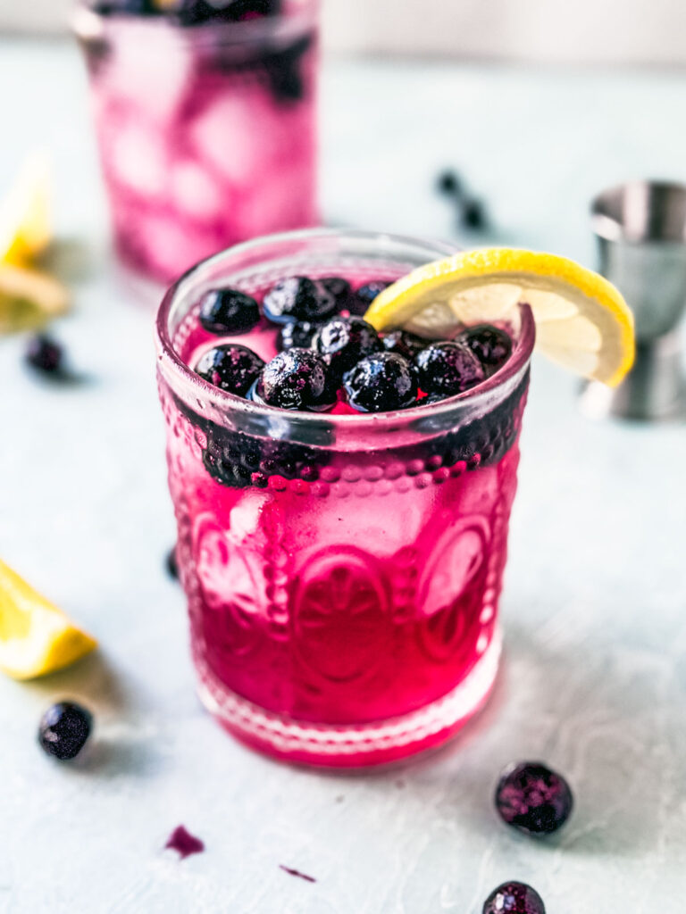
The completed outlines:
<svg viewBox="0 0 686 914">
<path fill-rule="evenodd" d="M 363 358 L 343 380 L 350 406 L 364 412 L 404 409 L 417 399 L 413 367 L 391 352 Z"/>
</svg>

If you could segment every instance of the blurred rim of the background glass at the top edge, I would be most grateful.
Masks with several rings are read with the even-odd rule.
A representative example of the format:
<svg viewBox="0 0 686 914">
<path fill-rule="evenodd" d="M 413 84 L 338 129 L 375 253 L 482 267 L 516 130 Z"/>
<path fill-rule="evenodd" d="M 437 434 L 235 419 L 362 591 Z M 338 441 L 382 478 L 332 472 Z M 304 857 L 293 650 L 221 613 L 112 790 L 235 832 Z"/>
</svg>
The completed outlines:
<svg viewBox="0 0 686 914">
<path fill-rule="evenodd" d="M 79 38 L 91 38 L 102 32 L 107 23 L 135 24 L 137 27 L 163 27 L 178 33 L 181 41 L 203 44 L 252 45 L 284 31 L 298 31 L 298 25 L 309 25 L 316 18 L 319 0 L 298 0 L 299 8 L 282 11 L 275 16 L 259 16 L 239 22 L 210 20 L 194 26 L 182 26 L 171 16 L 137 16 L 126 13 L 106 16 L 93 8 L 93 0 L 75 0 L 71 13 L 71 29 Z"/>
</svg>

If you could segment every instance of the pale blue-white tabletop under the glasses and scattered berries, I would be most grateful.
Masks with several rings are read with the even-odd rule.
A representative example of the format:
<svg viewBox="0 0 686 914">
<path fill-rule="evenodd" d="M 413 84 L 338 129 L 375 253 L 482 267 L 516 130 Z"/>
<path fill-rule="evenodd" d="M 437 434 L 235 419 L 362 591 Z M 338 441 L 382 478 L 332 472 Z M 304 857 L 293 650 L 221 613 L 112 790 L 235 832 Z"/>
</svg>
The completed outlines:
<svg viewBox="0 0 686 914">
<path fill-rule="evenodd" d="M 60 233 L 91 274 L 59 326 L 82 388 L 44 388 L 0 342 L 0 555 L 98 635 L 60 675 L 0 680 L 3 914 L 479 914 L 506 878 L 549 914 L 681 910 L 686 856 L 683 427 L 592 424 L 540 361 L 522 441 L 485 714 L 394 771 L 327 776 L 233 743 L 198 707 L 173 540 L 151 314 L 116 281 L 75 49 L 0 45 L 0 180 L 55 152 Z M 686 77 L 333 63 L 324 100 L 333 222 L 451 236 L 434 172 L 457 165 L 498 240 L 592 260 L 586 201 L 632 175 L 686 178 Z M 469 239 L 467 239 L 468 241 Z M 473 239 L 474 240 L 474 239 Z M 93 707 L 89 757 L 35 743 L 57 696 Z M 510 760 L 572 781 L 552 843 L 510 834 L 491 793 Z M 179 823 L 207 853 L 163 851 Z M 316 877 L 289 877 L 279 864 Z"/>
</svg>

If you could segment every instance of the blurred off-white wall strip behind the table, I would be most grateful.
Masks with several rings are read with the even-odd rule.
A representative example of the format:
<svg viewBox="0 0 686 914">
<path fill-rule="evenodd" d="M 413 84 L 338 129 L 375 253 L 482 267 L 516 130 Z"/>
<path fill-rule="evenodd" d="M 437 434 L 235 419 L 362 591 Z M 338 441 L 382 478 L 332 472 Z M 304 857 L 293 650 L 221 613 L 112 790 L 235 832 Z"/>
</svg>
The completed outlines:
<svg viewBox="0 0 686 914">
<path fill-rule="evenodd" d="M 0 29 L 63 29 L 70 2 L 0 0 Z M 336 50 L 686 63 L 682 0 L 324 0 L 324 9 Z"/>
</svg>

